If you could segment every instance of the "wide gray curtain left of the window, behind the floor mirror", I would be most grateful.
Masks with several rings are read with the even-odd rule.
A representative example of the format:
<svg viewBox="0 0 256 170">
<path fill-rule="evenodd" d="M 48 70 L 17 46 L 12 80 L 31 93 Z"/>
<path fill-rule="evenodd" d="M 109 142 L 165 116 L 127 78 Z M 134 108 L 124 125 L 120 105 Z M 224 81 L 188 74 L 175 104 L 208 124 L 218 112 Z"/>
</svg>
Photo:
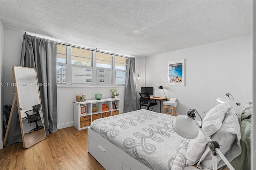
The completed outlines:
<svg viewBox="0 0 256 170">
<path fill-rule="evenodd" d="M 23 35 L 20 66 L 37 71 L 46 134 L 57 131 L 56 55 L 58 42 Z"/>
</svg>

